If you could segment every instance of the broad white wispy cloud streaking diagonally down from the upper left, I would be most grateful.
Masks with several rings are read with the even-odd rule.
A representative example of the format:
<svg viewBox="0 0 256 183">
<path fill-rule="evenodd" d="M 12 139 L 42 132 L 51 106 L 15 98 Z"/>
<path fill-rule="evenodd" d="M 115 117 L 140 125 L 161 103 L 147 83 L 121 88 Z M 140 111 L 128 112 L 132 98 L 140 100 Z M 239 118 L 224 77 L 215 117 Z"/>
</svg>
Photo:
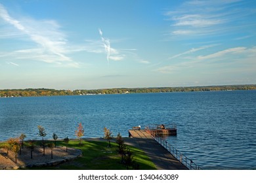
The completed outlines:
<svg viewBox="0 0 256 183">
<path fill-rule="evenodd" d="M 66 36 L 60 31 L 60 25 L 54 20 L 33 20 L 32 18 L 19 18 L 20 20 L 18 20 L 10 16 L 7 9 L 1 4 L 0 18 L 12 25 L 16 31 L 20 31 L 20 34 L 26 36 L 28 41 L 37 44 L 37 48 L 16 50 L 20 53 L 20 58 L 33 58 L 47 63 L 77 67 L 78 63 L 67 56 Z"/>
</svg>

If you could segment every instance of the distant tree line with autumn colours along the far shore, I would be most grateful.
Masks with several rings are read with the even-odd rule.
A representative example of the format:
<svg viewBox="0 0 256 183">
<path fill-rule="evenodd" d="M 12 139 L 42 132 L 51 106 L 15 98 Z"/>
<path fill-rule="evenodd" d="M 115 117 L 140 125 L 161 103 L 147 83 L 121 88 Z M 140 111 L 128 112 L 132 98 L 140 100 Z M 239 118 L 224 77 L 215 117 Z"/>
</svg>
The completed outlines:
<svg viewBox="0 0 256 183">
<path fill-rule="evenodd" d="M 111 88 L 98 90 L 54 90 L 54 89 L 14 89 L 0 90 L 0 97 L 39 97 L 56 95 L 98 95 L 123 93 L 165 93 L 165 92 L 205 92 L 225 90 L 256 90 L 256 84 L 228 86 L 190 86 L 190 87 L 161 87 L 161 88 Z"/>
</svg>

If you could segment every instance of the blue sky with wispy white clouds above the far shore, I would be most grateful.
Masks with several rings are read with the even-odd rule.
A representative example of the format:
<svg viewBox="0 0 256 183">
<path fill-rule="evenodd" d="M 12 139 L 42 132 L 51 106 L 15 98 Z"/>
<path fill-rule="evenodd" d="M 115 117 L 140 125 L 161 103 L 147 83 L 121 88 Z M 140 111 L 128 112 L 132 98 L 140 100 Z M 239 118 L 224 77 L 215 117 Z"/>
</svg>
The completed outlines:
<svg viewBox="0 0 256 183">
<path fill-rule="evenodd" d="M 256 3 L 0 0 L 0 89 L 256 84 Z"/>
</svg>

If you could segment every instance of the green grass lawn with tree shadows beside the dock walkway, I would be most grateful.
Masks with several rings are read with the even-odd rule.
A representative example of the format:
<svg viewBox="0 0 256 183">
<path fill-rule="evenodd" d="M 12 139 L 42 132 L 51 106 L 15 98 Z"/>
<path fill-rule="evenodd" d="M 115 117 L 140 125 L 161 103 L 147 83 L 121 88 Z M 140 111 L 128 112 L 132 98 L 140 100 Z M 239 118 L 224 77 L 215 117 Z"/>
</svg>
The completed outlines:
<svg viewBox="0 0 256 183">
<path fill-rule="evenodd" d="M 57 146 L 66 146 L 63 141 L 57 141 Z M 133 160 L 139 165 L 139 169 L 154 170 L 156 166 L 146 154 L 133 146 L 127 146 L 133 153 Z M 73 161 L 62 163 L 56 167 L 40 167 L 31 169 L 60 169 L 60 170 L 125 170 L 127 166 L 121 163 L 121 156 L 117 153 L 116 142 L 111 142 L 108 147 L 107 141 L 79 141 L 72 140 L 68 148 L 77 148 L 83 151 L 83 156 Z M 53 152 L 54 153 L 54 152 Z M 129 169 L 132 169 L 129 167 Z"/>
</svg>

